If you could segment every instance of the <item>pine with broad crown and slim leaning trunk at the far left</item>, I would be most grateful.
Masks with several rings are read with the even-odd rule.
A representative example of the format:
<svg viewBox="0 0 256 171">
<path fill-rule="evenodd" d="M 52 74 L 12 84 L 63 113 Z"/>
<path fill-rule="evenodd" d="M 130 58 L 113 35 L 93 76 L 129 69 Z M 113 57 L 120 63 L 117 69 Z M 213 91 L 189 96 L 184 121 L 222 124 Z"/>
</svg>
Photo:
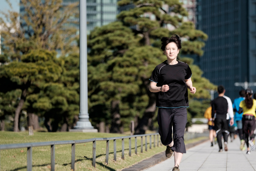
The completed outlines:
<svg viewBox="0 0 256 171">
<path fill-rule="evenodd" d="M 1 66 L 1 91 L 21 90 L 21 98 L 15 110 L 15 132 L 19 131 L 18 118 L 27 95 L 33 93 L 40 82 L 52 82 L 59 79 L 62 69 L 54 62 L 55 55 L 55 52 L 46 50 L 30 50 L 22 55 L 21 62 L 13 61 Z"/>
</svg>

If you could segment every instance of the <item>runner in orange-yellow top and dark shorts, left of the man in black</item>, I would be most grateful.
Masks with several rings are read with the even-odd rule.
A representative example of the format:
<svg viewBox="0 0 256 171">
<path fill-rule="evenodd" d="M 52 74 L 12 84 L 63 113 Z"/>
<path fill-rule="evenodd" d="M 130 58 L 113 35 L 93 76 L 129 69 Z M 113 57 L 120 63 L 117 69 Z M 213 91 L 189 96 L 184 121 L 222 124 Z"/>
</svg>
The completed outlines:
<svg viewBox="0 0 256 171">
<path fill-rule="evenodd" d="M 205 115 L 204 117 L 206 119 L 208 119 L 208 125 L 209 125 L 209 139 L 210 139 L 210 142 L 211 142 L 211 146 L 213 146 L 213 138 L 215 139 L 215 144 L 217 143 L 217 138 L 216 138 L 216 130 L 215 130 L 215 127 L 214 127 L 214 122 L 212 120 L 212 107 L 208 107 L 206 110 L 205 110 Z"/>
</svg>

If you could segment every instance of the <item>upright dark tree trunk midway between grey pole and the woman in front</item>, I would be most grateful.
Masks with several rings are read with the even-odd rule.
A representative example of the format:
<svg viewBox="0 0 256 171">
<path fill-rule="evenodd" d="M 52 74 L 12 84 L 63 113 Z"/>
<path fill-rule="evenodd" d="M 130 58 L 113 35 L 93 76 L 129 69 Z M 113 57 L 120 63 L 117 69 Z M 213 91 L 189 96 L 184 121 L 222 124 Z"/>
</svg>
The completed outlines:
<svg viewBox="0 0 256 171">
<path fill-rule="evenodd" d="M 112 102 L 112 123 L 110 132 L 111 133 L 121 133 L 120 127 L 121 127 L 121 116 L 119 114 L 119 100 L 114 100 Z"/>
</svg>

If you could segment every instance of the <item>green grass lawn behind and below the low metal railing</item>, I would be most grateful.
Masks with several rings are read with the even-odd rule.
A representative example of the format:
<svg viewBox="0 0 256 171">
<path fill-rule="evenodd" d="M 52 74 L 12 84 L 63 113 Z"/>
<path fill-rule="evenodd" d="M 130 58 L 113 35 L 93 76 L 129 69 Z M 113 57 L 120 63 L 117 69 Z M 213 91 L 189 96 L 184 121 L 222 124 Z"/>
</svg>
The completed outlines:
<svg viewBox="0 0 256 171">
<path fill-rule="evenodd" d="M 118 137 L 124 134 L 109 134 L 109 133 L 71 133 L 71 132 L 35 132 L 34 135 L 29 136 L 28 132 L 0 132 L 0 144 L 13 143 L 27 143 L 27 142 L 45 142 L 45 141 L 60 141 L 60 140 L 79 140 L 96 137 Z M 156 137 L 157 138 L 157 137 Z M 189 140 L 189 143 L 204 139 L 200 137 L 194 140 Z M 160 137 L 159 137 L 160 140 Z M 148 151 L 145 151 L 145 140 L 143 140 L 143 153 L 140 152 L 140 137 L 137 138 L 137 154 L 135 154 L 135 141 L 132 138 L 131 157 L 129 156 L 129 142 L 125 139 L 125 159 L 122 160 L 122 141 L 116 140 L 117 161 L 114 161 L 113 154 L 113 140 L 110 141 L 109 160 L 108 165 L 105 163 L 106 159 L 106 141 L 96 142 L 96 168 L 92 167 L 92 142 L 76 144 L 75 146 L 75 170 L 121 170 L 132 164 L 138 163 L 141 160 L 148 158 L 156 153 L 165 150 L 164 145 L 153 147 L 149 149 L 148 137 Z M 186 142 L 185 142 L 186 143 Z M 160 144 L 160 143 L 159 143 Z M 51 160 L 50 146 L 33 147 L 32 148 L 32 167 L 33 170 L 50 170 Z M 84 157 L 86 156 L 86 158 Z M 27 170 L 27 149 L 8 149 L 1 150 L 1 170 L 15 171 Z M 71 170 L 71 144 L 55 145 L 55 170 Z"/>
</svg>

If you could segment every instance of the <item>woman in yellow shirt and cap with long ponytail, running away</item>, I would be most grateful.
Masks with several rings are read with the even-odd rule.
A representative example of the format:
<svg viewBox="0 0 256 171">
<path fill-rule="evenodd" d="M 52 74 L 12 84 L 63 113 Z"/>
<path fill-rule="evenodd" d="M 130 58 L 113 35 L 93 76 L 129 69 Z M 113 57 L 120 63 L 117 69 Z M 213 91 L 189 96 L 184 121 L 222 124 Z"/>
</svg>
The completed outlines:
<svg viewBox="0 0 256 171">
<path fill-rule="evenodd" d="M 238 113 L 243 112 L 243 139 L 247 145 L 246 154 L 250 154 L 249 144 L 251 145 L 252 150 L 255 150 L 254 145 L 254 129 L 256 127 L 255 124 L 255 110 L 256 110 L 256 100 L 252 99 L 253 90 L 248 88 L 245 92 L 245 100 L 240 102 Z M 250 140 L 249 140 L 250 136 Z M 243 146 L 244 144 L 241 144 Z"/>
</svg>

